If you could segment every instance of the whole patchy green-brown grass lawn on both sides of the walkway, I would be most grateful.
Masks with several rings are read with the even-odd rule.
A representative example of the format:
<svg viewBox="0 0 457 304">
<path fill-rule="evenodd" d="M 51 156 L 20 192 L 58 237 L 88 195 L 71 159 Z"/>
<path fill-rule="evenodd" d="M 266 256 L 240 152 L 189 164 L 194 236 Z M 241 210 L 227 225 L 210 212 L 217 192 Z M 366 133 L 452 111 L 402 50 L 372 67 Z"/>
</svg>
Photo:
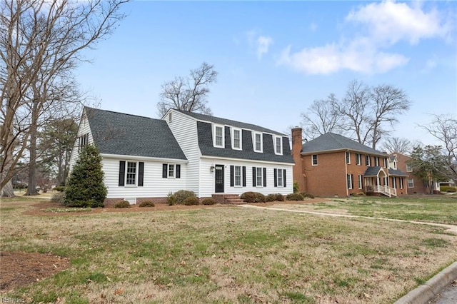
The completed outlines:
<svg viewBox="0 0 457 304">
<path fill-rule="evenodd" d="M 70 259 L 70 268 L 2 298 L 34 303 L 393 303 L 457 260 L 457 235 L 436 226 L 236 206 L 24 215 L 32 203 L 1 201 L 1 250 L 61 255 Z M 306 208 L 356 214 L 369 213 L 372 206 L 376 211 L 363 215 L 408 214 L 406 207 L 389 211 L 386 204 L 364 198 L 352 205 L 344 200 L 307 203 Z M 433 206 L 424 211 L 431 218 L 456 223 L 456 208 Z"/>
</svg>

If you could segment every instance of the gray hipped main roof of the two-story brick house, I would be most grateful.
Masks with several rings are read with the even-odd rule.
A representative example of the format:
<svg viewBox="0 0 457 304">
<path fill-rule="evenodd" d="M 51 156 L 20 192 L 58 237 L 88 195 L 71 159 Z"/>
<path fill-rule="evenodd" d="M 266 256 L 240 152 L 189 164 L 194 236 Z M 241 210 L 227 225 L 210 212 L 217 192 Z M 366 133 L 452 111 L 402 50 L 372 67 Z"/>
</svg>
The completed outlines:
<svg viewBox="0 0 457 304">
<path fill-rule="evenodd" d="M 386 153 L 369 148 L 350 138 L 335 134 L 325 133 L 307 143 L 303 143 L 302 153 L 315 153 L 326 151 L 350 150 L 371 155 L 386 156 Z"/>
</svg>

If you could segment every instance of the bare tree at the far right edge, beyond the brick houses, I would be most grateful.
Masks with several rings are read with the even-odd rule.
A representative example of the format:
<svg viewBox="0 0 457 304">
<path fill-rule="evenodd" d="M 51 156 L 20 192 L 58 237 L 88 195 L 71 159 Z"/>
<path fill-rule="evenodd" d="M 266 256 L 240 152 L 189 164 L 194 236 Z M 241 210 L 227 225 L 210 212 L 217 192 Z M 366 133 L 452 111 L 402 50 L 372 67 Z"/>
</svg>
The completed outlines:
<svg viewBox="0 0 457 304">
<path fill-rule="evenodd" d="M 428 126 L 421 126 L 443 144 L 447 176 L 457 181 L 457 119 L 451 115 L 433 115 Z"/>
</svg>

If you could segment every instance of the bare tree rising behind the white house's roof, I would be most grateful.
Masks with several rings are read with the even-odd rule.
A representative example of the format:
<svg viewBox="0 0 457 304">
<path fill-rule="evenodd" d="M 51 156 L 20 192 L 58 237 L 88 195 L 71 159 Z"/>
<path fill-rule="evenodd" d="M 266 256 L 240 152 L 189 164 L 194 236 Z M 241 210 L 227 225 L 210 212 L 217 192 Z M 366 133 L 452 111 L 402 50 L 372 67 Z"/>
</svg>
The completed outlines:
<svg viewBox="0 0 457 304">
<path fill-rule="evenodd" d="M 216 82 L 216 78 L 214 65 L 204 62 L 199 69 L 191 70 L 187 78 L 177 76 L 162 84 L 161 101 L 157 103 L 159 116 L 164 116 L 170 108 L 212 115 L 206 97 L 209 85 Z"/>
</svg>

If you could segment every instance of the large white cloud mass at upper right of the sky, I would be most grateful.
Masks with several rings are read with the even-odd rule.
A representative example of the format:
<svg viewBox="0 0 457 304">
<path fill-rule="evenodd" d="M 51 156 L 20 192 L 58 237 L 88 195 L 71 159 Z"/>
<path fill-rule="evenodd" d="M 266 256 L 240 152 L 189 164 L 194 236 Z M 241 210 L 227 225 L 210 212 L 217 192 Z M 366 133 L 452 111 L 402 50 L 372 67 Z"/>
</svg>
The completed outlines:
<svg viewBox="0 0 457 304">
<path fill-rule="evenodd" d="M 351 39 L 291 51 L 283 50 L 278 64 L 291 66 L 306 74 L 332 74 L 348 69 L 364 74 L 379 74 L 403 66 L 409 59 L 389 52 L 398 41 L 418 44 L 421 39 L 448 39 L 453 34 L 451 22 L 436 9 L 423 11 L 418 3 L 383 1 L 360 6 L 346 16 L 346 23 L 360 25 L 361 33 Z"/>
</svg>

